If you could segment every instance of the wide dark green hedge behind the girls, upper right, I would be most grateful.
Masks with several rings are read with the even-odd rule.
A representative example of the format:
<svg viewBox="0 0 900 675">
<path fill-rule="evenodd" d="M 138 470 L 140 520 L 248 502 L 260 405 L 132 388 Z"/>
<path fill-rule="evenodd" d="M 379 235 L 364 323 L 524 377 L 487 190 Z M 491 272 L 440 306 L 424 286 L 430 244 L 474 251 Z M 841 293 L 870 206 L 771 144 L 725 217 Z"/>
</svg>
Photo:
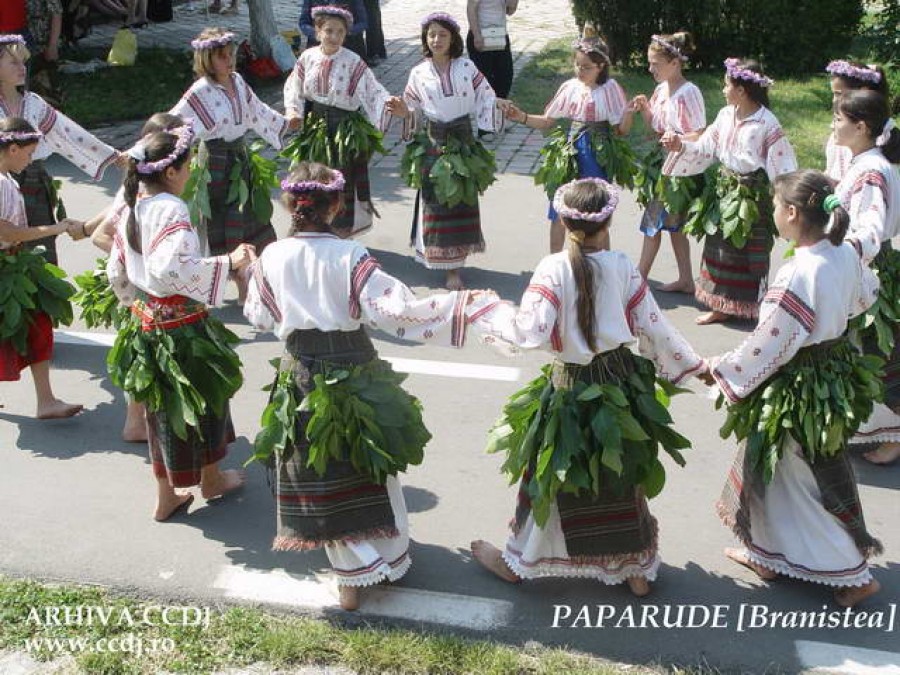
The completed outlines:
<svg viewBox="0 0 900 675">
<path fill-rule="evenodd" d="M 887 0 L 895 6 L 900 0 Z M 653 33 L 694 34 L 697 65 L 729 56 L 760 59 L 773 73 L 818 71 L 847 54 L 862 0 L 573 0 L 579 23 L 609 41 L 613 60 L 642 60 Z M 892 34 L 896 40 L 896 33 Z"/>
</svg>

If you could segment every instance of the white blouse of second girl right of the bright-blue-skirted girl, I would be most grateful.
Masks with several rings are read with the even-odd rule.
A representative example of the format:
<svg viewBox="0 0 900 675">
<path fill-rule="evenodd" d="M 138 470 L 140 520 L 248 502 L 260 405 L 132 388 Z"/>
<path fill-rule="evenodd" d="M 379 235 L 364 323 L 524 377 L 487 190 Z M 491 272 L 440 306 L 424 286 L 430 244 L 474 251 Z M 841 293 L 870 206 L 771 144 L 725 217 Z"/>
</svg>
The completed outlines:
<svg viewBox="0 0 900 675">
<path fill-rule="evenodd" d="M 683 146 L 681 152 L 666 158 L 666 175 L 692 176 L 717 160 L 740 174 L 765 169 L 769 180 L 797 169 L 797 158 L 784 130 L 775 115 L 762 106 L 742 120 L 737 118 L 736 106 L 725 106 L 700 138 L 683 141 Z"/>
</svg>

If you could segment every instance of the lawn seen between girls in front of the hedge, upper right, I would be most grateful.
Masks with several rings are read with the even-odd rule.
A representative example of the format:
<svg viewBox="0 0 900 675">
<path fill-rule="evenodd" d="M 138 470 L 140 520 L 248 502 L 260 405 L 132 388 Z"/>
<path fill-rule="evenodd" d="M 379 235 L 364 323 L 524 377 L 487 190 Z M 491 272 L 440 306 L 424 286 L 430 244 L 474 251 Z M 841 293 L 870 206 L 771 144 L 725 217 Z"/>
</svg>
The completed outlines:
<svg viewBox="0 0 900 675">
<path fill-rule="evenodd" d="M 687 77 L 703 91 L 706 119 L 712 122 L 725 105 L 722 96 L 722 72 L 687 71 Z M 572 48 L 569 38 L 551 42 L 529 62 L 513 83 L 511 98 L 523 110 L 538 112 L 556 92 L 557 87 L 573 76 Z M 655 83 L 646 70 L 613 71 L 613 77 L 628 96 L 653 92 Z M 831 91 L 821 73 L 780 79 L 770 93 L 772 112 L 781 122 L 797 153 L 801 167 L 825 168 L 825 141 L 831 123 Z M 646 132 L 640 116 L 635 116 L 632 136 Z"/>
</svg>

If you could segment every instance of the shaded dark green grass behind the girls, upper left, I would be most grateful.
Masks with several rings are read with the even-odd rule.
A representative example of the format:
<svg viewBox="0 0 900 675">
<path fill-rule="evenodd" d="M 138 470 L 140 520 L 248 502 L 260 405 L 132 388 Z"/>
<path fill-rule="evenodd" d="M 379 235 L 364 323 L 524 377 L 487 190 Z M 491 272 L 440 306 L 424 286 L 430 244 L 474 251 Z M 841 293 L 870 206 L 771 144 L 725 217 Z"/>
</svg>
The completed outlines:
<svg viewBox="0 0 900 675">
<path fill-rule="evenodd" d="M 86 50 L 64 58 L 88 61 L 105 54 Z M 90 128 L 109 122 L 144 120 L 169 110 L 194 81 L 191 54 L 141 49 L 133 66 L 113 66 L 94 73 L 60 74 L 64 112 Z"/>
</svg>

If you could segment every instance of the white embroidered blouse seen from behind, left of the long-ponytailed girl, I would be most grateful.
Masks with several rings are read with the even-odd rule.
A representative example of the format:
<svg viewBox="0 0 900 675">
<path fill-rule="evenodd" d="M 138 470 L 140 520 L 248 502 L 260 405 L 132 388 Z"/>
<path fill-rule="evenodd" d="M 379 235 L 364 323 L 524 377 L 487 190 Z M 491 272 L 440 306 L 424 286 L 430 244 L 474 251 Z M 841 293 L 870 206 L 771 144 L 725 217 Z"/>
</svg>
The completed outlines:
<svg viewBox="0 0 900 675">
<path fill-rule="evenodd" d="M 364 246 L 327 233 L 301 233 L 270 244 L 253 263 L 244 315 L 282 340 L 295 330 L 352 331 L 365 324 L 399 338 L 461 347 L 465 291 L 417 298 L 381 270 Z"/>
</svg>

